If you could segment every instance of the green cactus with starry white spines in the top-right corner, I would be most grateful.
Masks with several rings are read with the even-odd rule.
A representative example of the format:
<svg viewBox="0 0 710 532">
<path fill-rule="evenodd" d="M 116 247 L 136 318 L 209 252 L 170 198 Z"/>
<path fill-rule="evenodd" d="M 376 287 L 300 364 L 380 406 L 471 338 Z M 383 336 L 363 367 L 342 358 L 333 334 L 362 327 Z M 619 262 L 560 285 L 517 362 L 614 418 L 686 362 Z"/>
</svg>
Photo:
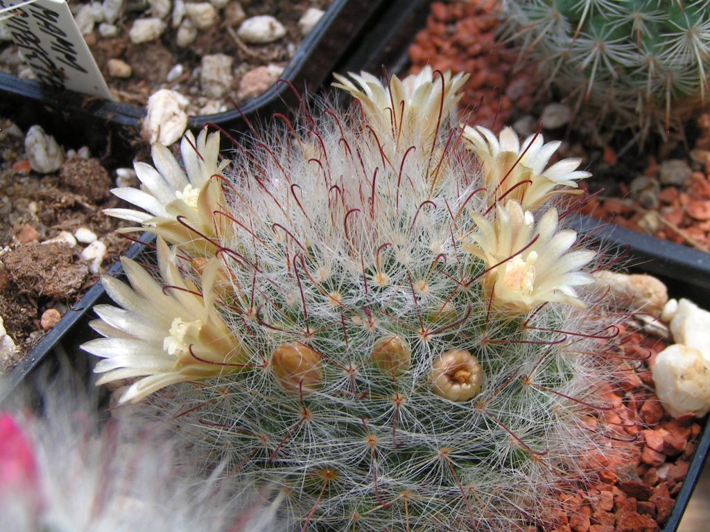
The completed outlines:
<svg viewBox="0 0 710 532">
<path fill-rule="evenodd" d="M 504 0 L 506 34 L 542 79 L 612 126 L 682 131 L 709 93 L 706 0 Z"/>
</svg>

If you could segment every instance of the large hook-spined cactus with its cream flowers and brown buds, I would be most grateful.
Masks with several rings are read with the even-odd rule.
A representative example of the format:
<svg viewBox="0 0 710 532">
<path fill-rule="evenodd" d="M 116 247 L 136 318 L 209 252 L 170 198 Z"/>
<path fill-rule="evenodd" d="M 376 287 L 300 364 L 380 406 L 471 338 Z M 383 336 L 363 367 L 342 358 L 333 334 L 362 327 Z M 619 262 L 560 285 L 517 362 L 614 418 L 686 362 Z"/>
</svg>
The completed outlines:
<svg viewBox="0 0 710 532">
<path fill-rule="evenodd" d="M 350 111 L 231 166 L 202 131 L 187 175 L 160 146 L 136 168 L 153 216 L 119 215 L 158 234 L 159 275 L 104 279 L 123 308 L 97 306 L 84 349 L 208 464 L 282 487 L 288 528 L 526 529 L 614 433 L 599 258 L 552 206 L 589 174 L 540 135 L 450 124 L 465 80 L 338 77 Z"/>
</svg>

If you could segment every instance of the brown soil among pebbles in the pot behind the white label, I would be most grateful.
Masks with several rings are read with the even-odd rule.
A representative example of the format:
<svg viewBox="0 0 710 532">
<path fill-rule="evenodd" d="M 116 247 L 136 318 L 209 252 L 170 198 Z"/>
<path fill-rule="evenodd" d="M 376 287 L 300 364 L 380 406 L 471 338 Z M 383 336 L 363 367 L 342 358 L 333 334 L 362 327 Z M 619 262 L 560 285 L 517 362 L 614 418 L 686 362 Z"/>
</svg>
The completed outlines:
<svg viewBox="0 0 710 532">
<path fill-rule="evenodd" d="M 175 44 L 177 29 L 170 24 L 170 14 L 165 18 L 168 28 L 158 40 L 134 44 L 129 38 L 133 21 L 152 16 L 146 4 L 142 10 L 127 12 L 115 23 L 119 28 L 116 37 L 102 37 L 98 31 L 99 24 L 96 24 L 94 31 L 84 35 L 84 39 L 117 101 L 143 106 L 158 89 L 174 89 L 190 98 L 188 114 L 212 114 L 217 111 L 201 108 L 209 104 L 212 109 L 232 109 L 234 103 L 241 104 L 253 97 L 239 97 L 241 77 L 246 72 L 269 64 L 285 67 L 304 38 L 297 24 L 302 14 L 310 7 L 325 10 L 332 0 L 244 0 L 239 3 L 247 18 L 257 15 L 277 18 L 286 29 L 285 37 L 265 45 L 245 44 L 241 41 L 237 43 L 233 35 L 236 35 L 239 23 L 230 22 L 225 9 L 219 9 L 217 26 L 199 31 L 195 42 L 186 48 Z M 72 0 L 72 4 L 79 6 L 84 2 Z M 0 52 L 6 50 L 9 53 L 7 49 L 16 50 L 16 47 L 12 43 L 0 43 Z M 196 74 L 195 69 L 200 67 L 203 55 L 217 53 L 234 57 L 234 85 L 223 98 L 208 101 L 200 87 L 200 75 Z M 107 64 L 114 58 L 124 60 L 131 66 L 132 74 L 129 78 L 119 79 L 109 75 Z M 178 64 L 182 65 L 183 74 L 173 82 L 168 82 L 168 71 Z M 0 70 L 13 75 L 18 75 L 22 68 L 21 64 L 10 66 L 0 62 Z"/>
</svg>

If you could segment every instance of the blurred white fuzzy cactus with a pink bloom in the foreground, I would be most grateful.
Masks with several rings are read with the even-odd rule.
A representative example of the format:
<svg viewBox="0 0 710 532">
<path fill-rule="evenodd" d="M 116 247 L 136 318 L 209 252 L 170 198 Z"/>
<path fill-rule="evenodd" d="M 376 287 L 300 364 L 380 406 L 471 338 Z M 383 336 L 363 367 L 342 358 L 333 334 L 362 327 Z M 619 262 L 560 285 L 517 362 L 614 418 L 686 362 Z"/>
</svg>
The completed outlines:
<svg viewBox="0 0 710 532">
<path fill-rule="evenodd" d="M 0 530 L 278 528 L 278 494 L 270 506 L 236 479 L 224 480 L 219 468 L 202 477 L 156 426 L 131 416 L 99 420 L 97 401 L 77 393 L 80 387 L 65 377 L 45 381 L 41 412 L 33 412 L 33 401 L 24 399 L 0 409 Z M 16 398 L 18 390 L 13 394 Z"/>
</svg>

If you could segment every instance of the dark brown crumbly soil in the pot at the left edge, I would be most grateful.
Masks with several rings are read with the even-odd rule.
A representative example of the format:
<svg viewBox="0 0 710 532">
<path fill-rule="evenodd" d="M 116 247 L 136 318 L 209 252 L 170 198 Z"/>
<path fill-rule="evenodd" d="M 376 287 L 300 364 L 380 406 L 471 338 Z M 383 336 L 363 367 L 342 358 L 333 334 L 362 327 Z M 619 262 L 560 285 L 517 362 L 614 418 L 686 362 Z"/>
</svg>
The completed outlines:
<svg viewBox="0 0 710 532">
<path fill-rule="evenodd" d="M 0 118 L 0 130 L 10 126 Z M 19 348 L 10 360 L 0 360 L 0 371 L 6 371 L 45 333 L 45 311 L 64 314 L 99 279 L 80 260 L 87 244 L 42 242 L 89 228 L 107 245 L 102 271 L 131 242 L 114 233 L 120 221 L 102 214 L 120 201 L 109 194 L 111 178 L 101 160 L 72 157 L 58 172 L 40 175 L 30 170 L 23 136 L 11 134 L 1 139 L 0 153 L 0 316 Z"/>
</svg>

